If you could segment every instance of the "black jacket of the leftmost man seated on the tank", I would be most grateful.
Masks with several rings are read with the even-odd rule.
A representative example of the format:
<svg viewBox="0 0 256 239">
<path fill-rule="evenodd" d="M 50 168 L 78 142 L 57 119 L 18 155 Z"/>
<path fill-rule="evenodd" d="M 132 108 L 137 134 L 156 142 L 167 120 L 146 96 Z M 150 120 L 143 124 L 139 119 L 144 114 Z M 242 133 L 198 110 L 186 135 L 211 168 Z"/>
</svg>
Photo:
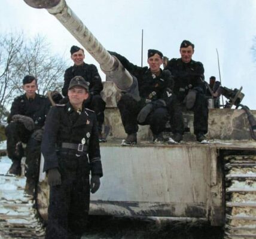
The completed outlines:
<svg viewBox="0 0 256 239">
<path fill-rule="evenodd" d="M 50 101 L 46 96 L 36 94 L 35 99 L 28 99 L 26 94 L 23 94 L 14 99 L 7 121 L 10 123 L 13 115 L 26 115 L 33 119 L 36 128 L 41 128 L 44 126 L 50 105 Z"/>
</svg>

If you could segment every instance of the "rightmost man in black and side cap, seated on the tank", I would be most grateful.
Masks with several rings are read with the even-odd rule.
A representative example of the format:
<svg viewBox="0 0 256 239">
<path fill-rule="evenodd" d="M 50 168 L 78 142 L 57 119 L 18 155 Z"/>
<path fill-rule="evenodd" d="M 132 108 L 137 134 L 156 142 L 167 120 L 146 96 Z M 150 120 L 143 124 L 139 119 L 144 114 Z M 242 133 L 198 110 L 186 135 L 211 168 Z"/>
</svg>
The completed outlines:
<svg viewBox="0 0 256 239">
<path fill-rule="evenodd" d="M 200 143 L 207 143 L 205 134 L 208 132 L 208 102 L 205 97 L 204 69 L 201 62 L 192 60 L 194 44 L 184 40 L 179 52 L 181 58 L 171 59 L 165 69 L 174 76 L 173 93 L 180 103 L 194 111 L 194 134 Z"/>
</svg>

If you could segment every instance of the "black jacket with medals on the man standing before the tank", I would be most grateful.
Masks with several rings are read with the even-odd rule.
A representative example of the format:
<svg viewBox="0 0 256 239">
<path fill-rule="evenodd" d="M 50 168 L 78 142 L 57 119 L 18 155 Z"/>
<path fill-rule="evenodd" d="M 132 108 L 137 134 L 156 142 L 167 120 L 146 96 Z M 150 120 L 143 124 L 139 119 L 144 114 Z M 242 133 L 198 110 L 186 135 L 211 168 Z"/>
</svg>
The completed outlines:
<svg viewBox="0 0 256 239">
<path fill-rule="evenodd" d="M 42 137 L 44 171 L 59 167 L 57 151 L 62 148 L 62 143 L 80 144 L 82 139 L 86 140 L 84 146 L 87 147 L 92 174 L 102 176 L 95 113 L 89 109 L 83 109 L 79 115 L 69 102 L 66 105 L 53 106 L 47 115 Z"/>
</svg>

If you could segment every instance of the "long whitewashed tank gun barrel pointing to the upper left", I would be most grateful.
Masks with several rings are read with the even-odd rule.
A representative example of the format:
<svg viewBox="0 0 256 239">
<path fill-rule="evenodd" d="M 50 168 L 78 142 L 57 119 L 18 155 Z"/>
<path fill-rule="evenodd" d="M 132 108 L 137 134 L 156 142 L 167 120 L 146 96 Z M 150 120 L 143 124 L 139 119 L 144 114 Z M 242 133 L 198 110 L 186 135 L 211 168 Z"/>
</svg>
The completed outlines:
<svg viewBox="0 0 256 239">
<path fill-rule="evenodd" d="M 108 51 L 93 36 L 83 22 L 68 7 L 65 0 L 24 0 L 33 8 L 45 8 L 48 13 L 55 16 L 63 26 L 80 42 L 80 44 L 99 63 L 108 80 L 113 81 L 121 91 L 129 92 L 139 100 L 138 83 L 123 67 L 117 58 Z"/>
</svg>

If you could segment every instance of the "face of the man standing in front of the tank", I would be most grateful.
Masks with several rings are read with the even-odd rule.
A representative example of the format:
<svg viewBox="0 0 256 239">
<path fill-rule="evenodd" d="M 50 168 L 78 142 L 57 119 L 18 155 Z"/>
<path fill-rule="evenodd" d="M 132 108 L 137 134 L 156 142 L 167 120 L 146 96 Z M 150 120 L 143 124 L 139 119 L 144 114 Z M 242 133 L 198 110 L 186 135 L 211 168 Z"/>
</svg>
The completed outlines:
<svg viewBox="0 0 256 239">
<path fill-rule="evenodd" d="M 68 97 L 72 106 L 80 108 L 83 101 L 88 99 L 89 94 L 85 88 L 75 86 L 68 90 Z"/>
</svg>

